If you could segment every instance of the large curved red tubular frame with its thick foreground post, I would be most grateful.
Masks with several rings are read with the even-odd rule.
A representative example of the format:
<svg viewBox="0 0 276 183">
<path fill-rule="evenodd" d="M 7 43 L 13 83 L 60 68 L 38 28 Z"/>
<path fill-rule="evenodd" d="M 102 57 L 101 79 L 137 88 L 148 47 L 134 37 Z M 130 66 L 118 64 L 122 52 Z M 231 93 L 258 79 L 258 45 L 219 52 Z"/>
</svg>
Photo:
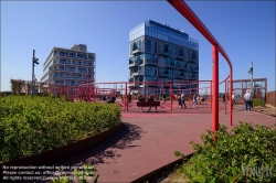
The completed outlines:
<svg viewBox="0 0 276 183">
<path fill-rule="evenodd" d="M 221 44 L 215 40 L 208 28 L 201 22 L 197 14 L 189 8 L 189 6 L 182 0 L 167 0 L 178 12 L 180 12 L 211 44 L 212 44 L 212 130 L 213 132 L 219 130 L 219 52 L 226 60 L 230 66 L 230 90 L 233 89 L 233 67 L 232 63 L 223 50 Z M 230 100 L 230 106 L 232 106 L 232 100 Z M 230 126 L 232 126 L 232 107 L 230 107 Z"/>
</svg>

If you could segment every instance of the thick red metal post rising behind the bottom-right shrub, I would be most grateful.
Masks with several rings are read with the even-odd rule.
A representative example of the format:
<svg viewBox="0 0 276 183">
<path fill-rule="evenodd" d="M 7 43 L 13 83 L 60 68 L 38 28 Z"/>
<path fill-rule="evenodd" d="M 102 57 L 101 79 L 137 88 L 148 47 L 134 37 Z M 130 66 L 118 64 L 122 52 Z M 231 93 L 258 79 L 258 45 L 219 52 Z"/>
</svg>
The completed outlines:
<svg viewBox="0 0 276 183">
<path fill-rule="evenodd" d="M 212 45 L 213 58 L 213 98 L 212 98 L 212 131 L 219 130 L 219 50 L 217 45 Z M 216 137 L 214 137 L 216 140 Z"/>
</svg>

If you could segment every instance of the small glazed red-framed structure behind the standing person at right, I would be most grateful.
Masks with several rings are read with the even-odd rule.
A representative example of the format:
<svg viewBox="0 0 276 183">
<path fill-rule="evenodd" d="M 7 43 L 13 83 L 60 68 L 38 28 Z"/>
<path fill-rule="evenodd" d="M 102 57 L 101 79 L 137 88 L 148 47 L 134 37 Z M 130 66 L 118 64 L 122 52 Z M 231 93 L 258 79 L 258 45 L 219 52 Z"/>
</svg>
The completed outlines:
<svg viewBox="0 0 276 183">
<path fill-rule="evenodd" d="M 227 88 L 230 82 L 227 80 Z M 235 79 L 233 80 L 233 92 L 237 99 L 243 99 L 246 90 L 251 89 L 251 79 Z M 227 93 L 230 90 L 227 89 Z M 253 94 L 255 98 L 265 99 L 267 93 L 267 78 L 253 78 Z"/>
</svg>

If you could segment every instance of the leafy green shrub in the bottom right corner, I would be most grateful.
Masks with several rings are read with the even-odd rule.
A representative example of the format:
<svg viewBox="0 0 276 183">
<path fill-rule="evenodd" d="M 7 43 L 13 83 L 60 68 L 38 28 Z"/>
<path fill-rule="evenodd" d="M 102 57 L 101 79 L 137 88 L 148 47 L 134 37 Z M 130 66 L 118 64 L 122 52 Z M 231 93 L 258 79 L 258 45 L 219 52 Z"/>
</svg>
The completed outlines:
<svg viewBox="0 0 276 183">
<path fill-rule="evenodd" d="M 192 141 L 197 152 L 189 161 L 179 151 L 174 152 L 183 155 L 182 173 L 191 182 L 273 182 L 276 179 L 275 130 L 240 122 L 231 132 L 220 126 L 215 134 L 216 141 L 209 130 L 201 136 L 203 143 Z M 256 170 L 258 176 L 254 174 Z"/>
</svg>

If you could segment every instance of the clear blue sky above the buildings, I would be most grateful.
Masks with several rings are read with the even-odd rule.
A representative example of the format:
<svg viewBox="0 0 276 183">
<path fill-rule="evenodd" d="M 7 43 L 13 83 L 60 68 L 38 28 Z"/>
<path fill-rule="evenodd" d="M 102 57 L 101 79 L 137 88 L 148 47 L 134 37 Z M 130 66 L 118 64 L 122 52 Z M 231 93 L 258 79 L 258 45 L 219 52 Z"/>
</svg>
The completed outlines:
<svg viewBox="0 0 276 183">
<path fill-rule="evenodd" d="M 233 64 L 234 79 L 267 77 L 275 90 L 275 1 L 187 1 Z M 32 50 L 43 63 L 53 46 L 86 44 L 96 53 L 97 82 L 128 80 L 129 30 L 153 20 L 184 30 L 199 41 L 200 79 L 211 79 L 212 46 L 167 1 L 1 1 L 1 88 L 10 79 L 31 80 Z M 220 80 L 229 75 L 220 55 Z M 224 88 L 221 86 L 220 88 Z"/>
</svg>

